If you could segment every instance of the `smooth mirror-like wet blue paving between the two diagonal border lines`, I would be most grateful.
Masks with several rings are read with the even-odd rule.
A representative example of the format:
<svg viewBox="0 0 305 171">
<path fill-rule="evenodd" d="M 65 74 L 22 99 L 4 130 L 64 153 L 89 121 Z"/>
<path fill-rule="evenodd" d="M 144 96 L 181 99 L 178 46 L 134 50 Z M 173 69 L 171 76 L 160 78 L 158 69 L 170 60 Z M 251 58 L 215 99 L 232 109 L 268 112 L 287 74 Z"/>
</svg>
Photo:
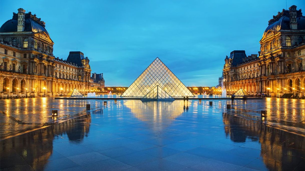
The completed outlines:
<svg viewBox="0 0 305 171">
<path fill-rule="evenodd" d="M 76 106 L 91 103 L 92 107 L 102 101 L 65 103 Z M 183 100 L 118 100 L 117 104 L 109 101 L 106 108 L 91 114 L 0 141 L 0 167 L 8 170 L 305 169 L 304 137 L 257 120 L 232 116 L 224 110 L 226 103 L 229 101 L 214 100 L 213 106 L 208 101 L 199 104 L 195 100 L 185 103 Z M 264 107 L 259 103 L 263 102 L 246 102 L 257 107 L 253 111 Z M 245 110 L 244 105 L 236 101 L 233 111 Z M 291 110 L 287 109 L 287 113 Z"/>
</svg>

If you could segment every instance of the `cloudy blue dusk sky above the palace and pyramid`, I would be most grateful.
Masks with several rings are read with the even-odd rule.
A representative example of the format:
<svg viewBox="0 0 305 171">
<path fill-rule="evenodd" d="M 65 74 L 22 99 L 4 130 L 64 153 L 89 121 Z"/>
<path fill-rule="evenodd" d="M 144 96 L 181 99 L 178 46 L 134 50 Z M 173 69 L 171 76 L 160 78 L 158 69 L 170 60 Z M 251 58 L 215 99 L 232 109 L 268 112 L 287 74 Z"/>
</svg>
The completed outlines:
<svg viewBox="0 0 305 171">
<path fill-rule="evenodd" d="M 291 5 L 305 9 L 305 1 Z M 2 0 L 1 23 L 18 8 L 45 21 L 56 57 L 82 51 L 106 86 L 129 86 L 156 57 L 187 86 L 215 86 L 231 51 L 258 54 L 286 1 Z"/>
</svg>

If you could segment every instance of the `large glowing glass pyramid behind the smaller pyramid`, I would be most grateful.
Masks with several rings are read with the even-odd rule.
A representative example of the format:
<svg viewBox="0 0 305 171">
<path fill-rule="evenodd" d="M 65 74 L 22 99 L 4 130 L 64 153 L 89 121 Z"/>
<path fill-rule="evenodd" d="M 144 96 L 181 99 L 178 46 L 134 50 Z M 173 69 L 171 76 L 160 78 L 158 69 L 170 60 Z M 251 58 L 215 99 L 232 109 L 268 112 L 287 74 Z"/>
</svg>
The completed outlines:
<svg viewBox="0 0 305 171">
<path fill-rule="evenodd" d="M 171 97 L 194 96 L 176 75 L 159 58 L 156 58 L 121 97 L 144 97 L 157 85 Z"/>
</svg>

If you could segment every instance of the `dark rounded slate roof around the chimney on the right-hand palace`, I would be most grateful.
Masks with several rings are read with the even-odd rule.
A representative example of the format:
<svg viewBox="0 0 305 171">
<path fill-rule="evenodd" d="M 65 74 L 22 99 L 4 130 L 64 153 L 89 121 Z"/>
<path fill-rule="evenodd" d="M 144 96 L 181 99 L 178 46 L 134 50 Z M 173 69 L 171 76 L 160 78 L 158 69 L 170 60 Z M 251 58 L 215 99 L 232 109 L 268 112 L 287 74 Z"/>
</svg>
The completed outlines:
<svg viewBox="0 0 305 171">
<path fill-rule="evenodd" d="M 296 22 L 298 23 L 298 30 L 305 30 L 305 16 L 302 15 L 301 10 L 297 11 Z M 268 30 L 290 30 L 289 10 L 283 10 L 277 16 L 274 16 L 269 21 L 265 32 Z"/>
</svg>

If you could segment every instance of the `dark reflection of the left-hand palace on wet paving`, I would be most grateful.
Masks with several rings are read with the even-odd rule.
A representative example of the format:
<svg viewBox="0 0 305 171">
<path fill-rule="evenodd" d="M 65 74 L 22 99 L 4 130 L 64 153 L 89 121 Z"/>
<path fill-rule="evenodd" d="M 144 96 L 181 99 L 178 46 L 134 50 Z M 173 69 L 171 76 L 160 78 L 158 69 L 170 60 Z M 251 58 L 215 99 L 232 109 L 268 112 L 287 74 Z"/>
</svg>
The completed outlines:
<svg viewBox="0 0 305 171">
<path fill-rule="evenodd" d="M 0 144 L 1 159 L 9 159 L 9 162 L 1 165 L 22 165 L 24 159 L 34 170 L 43 170 L 53 154 L 53 141 L 67 137 L 70 142 L 81 143 L 88 136 L 90 123 L 88 114 L 3 140 Z"/>
</svg>

